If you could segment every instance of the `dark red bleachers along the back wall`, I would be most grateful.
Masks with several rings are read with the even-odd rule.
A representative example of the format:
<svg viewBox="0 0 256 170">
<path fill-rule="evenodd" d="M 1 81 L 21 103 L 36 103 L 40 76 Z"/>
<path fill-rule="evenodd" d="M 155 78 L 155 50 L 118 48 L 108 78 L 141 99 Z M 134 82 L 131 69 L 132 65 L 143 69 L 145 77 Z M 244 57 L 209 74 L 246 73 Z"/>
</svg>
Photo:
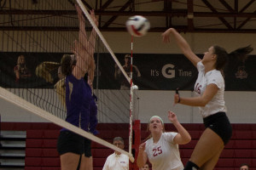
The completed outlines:
<svg viewBox="0 0 256 170">
<path fill-rule="evenodd" d="M 189 160 L 197 140 L 203 132 L 202 124 L 183 124 L 188 129 L 192 140 L 189 144 L 180 145 L 183 163 Z M 233 124 L 233 136 L 224 148 L 215 170 L 235 170 L 241 163 L 250 165 L 250 170 L 256 170 L 256 124 Z M 117 128 L 118 127 L 118 128 Z M 2 122 L 3 130 L 26 130 L 26 170 L 59 170 L 60 158 L 56 151 L 57 137 L 61 127 L 52 123 L 15 123 Z M 113 137 L 125 139 L 125 150 L 128 150 L 129 125 L 116 126 L 114 123 L 99 124 L 99 137 L 112 143 Z M 114 129 L 114 130 L 113 130 Z M 141 125 L 142 141 L 148 136 L 147 124 Z M 166 131 L 173 131 L 171 124 L 166 124 Z M 113 150 L 102 144 L 92 142 L 94 170 L 102 169 L 104 162 Z"/>
</svg>

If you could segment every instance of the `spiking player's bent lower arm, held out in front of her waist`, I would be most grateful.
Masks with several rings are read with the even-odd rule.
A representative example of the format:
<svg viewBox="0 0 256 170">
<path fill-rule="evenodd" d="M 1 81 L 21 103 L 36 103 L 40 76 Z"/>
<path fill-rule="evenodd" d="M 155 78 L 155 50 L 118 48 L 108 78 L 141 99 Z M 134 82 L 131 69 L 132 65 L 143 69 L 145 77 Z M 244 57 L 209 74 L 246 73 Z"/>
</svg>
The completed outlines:
<svg viewBox="0 0 256 170">
<path fill-rule="evenodd" d="M 174 95 L 174 103 L 190 106 L 205 106 L 210 100 L 218 93 L 218 87 L 216 84 L 209 84 L 201 96 L 193 98 L 181 98 L 178 94 Z M 179 102 L 178 102 L 179 101 Z"/>
</svg>

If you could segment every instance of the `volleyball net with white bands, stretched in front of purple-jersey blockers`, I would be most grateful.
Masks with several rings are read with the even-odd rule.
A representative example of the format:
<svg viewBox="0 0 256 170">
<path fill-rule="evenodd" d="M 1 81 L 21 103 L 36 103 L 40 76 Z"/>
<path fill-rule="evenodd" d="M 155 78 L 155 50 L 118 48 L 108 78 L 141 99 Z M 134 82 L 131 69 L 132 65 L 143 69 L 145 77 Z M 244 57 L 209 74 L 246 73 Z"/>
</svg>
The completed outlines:
<svg viewBox="0 0 256 170">
<path fill-rule="evenodd" d="M 73 54 L 74 42 L 79 41 L 76 4 L 84 14 L 85 37 L 90 37 L 91 32 L 96 31 L 96 41 L 88 42 L 85 46 L 95 48 L 93 92 L 97 97 L 98 122 L 116 123 L 116 127 L 130 124 L 128 152 L 65 121 L 65 100 L 62 100 L 61 92 L 56 87 L 63 80 L 61 58 L 63 54 Z M 132 88 L 119 89 L 120 82 L 131 84 L 130 77 L 119 62 L 125 54 L 117 57 L 113 53 L 84 3 L 80 0 L 45 0 L 38 3 L 30 0 L 6 1 L 1 8 L 0 97 L 49 122 L 124 153 L 134 161 L 131 154 L 131 126 L 138 112 L 138 98 Z M 121 74 L 121 81 L 114 76 L 116 71 Z"/>
</svg>

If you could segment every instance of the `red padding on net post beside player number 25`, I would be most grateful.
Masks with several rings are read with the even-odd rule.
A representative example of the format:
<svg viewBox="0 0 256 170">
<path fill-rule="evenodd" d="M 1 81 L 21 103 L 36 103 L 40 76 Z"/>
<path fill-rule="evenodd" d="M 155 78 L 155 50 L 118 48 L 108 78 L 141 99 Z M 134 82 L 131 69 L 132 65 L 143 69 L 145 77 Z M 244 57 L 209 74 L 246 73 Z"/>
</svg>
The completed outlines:
<svg viewBox="0 0 256 170">
<path fill-rule="evenodd" d="M 141 121 L 140 120 L 134 120 L 134 124 L 133 124 L 133 144 L 132 144 L 132 150 L 134 153 L 134 157 L 135 157 L 135 161 L 133 163 L 133 170 L 139 170 L 139 168 L 137 167 L 137 155 L 138 155 L 138 149 L 139 149 L 139 145 L 141 144 L 141 139 L 142 139 L 142 134 L 141 134 Z"/>
</svg>

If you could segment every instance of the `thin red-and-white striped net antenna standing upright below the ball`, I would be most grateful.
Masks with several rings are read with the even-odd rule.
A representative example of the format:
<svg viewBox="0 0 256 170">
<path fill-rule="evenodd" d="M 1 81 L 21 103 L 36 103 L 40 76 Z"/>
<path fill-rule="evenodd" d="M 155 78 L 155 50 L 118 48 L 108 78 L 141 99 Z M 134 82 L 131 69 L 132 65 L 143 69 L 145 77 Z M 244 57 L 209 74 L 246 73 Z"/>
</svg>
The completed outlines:
<svg viewBox="0 0 256 170">
<path fill-rule="evenodd" d="M 132 111 L 133 111 L 133 88 L 132 88 L 132 47 L 133 46 L 133 36 L 131 36 L 131 77 L 130 77 L 130 128 L 129 128 L 129 153 L 131 154 L 131 144 L 132 144 Z"/>
</svg>

